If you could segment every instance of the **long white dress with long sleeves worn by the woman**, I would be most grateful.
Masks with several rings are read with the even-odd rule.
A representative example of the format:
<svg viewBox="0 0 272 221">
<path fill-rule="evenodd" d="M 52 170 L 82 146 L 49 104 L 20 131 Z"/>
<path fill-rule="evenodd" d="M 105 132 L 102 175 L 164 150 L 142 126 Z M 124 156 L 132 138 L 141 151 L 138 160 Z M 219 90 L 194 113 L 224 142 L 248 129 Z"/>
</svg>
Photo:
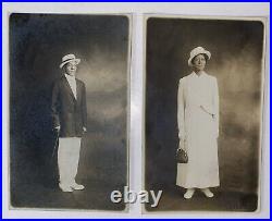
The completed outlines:
<svg viewBox="0 0 272 221">
<path fill-rule="evenodd" d="M 176 185 L 185 188 L 219 186 L 218 82 L 202 72 L 181 78 L 177 95 L 177 124 L 181 145 L 188 163 L 177 163 Z"/>
</svg>

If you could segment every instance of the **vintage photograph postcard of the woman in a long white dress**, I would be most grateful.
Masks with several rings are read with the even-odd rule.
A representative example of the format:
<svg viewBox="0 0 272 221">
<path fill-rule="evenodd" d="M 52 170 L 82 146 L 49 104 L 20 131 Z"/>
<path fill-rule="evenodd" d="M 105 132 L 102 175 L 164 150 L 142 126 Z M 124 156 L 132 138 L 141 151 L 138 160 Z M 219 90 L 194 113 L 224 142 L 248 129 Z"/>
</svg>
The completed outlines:
<svg viewBox="0 0 272 221">
<path fill-rule="evenodd" d="M 145 212 L 258 212 L 265 19 L 145 20 Z"/>
</svg>

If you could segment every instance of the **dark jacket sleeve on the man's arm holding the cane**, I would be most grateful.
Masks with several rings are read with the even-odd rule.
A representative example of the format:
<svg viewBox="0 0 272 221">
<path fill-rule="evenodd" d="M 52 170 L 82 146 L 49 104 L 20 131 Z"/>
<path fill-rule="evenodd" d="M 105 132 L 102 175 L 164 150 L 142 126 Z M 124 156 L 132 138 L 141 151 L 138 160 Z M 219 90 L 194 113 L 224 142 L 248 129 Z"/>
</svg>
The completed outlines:
<svg viewBox="0 0 272 221">
<path fill-rule="evenodd" d="M 60 116 L 59 116 L 59 109 L 60 109 L 60 102 L 59 102 L 59 91 L 60 87 L 58 82 L 53 84 L 52 89 L 52 99 L 51 99 L 51 118 L 52 118 L 52 124 L 53 128 L 57 126 L 60 126 Z"/>
</svg>

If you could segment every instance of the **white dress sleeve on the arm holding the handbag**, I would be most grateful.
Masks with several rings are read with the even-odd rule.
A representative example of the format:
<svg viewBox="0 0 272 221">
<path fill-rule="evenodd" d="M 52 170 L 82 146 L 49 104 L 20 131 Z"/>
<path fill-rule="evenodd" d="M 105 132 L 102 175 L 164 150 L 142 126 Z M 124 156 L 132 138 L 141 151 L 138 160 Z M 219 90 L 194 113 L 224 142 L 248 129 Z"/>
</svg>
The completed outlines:
<svg viewBox="0 0 272 221">
<path fill-rule="evenodd" d="M 184 99 L 184 81 L 181 79 L 177 90 L 177 126 L 178 126 L 178 137 L 185 140 L 185 99 Z"/>
</svg>

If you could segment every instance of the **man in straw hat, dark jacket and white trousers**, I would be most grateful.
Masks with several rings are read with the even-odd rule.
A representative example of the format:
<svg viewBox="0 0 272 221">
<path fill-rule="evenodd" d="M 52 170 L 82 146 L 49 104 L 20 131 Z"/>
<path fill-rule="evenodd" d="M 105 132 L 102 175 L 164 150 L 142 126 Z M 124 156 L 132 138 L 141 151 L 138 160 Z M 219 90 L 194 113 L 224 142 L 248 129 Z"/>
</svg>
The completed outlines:
<svg viewBox="0 0 272 221">
<path fill-rule="evenodd" d="M 87 127 L 85 84 L 75 78 L 81 59 L 74 54 L 62 58 L 63 75 L 53 85 L 51 114 L 53 128 L 59 134 L 59 186 L 62 192 L 84 189 L 75 182 L 79 160 L 81 140 Z"/>
</svg>

